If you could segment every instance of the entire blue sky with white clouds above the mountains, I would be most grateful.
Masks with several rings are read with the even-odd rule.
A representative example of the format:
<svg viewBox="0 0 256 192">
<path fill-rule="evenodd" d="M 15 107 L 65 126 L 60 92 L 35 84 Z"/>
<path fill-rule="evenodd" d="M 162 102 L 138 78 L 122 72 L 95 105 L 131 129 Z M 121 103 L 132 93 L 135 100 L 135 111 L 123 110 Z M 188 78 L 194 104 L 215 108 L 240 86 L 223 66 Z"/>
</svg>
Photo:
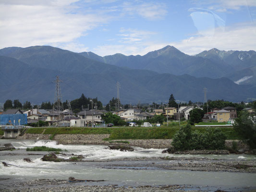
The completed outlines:
<svg viewBox="0 0 256 192">
<path fill-rule="evenodd" d="M 256 50 L 256 0 L 0 0 L 0 48 Z"/>
</svg>

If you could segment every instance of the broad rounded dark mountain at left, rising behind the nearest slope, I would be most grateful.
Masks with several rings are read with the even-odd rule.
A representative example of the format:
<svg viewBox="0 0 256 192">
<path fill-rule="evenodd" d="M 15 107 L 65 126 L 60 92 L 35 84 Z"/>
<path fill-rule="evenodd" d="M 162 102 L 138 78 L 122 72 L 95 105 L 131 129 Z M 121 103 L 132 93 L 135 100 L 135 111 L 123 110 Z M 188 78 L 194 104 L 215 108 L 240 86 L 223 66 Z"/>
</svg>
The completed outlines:
<svg viewBox="0 0 256 192">
<path fill-rule="evenodd" d="M 80 54 L 50 46 L 21 48 L 8 54 L 4 54 L 1 49 L 0 55 L 15 58 L 33 67 L 63 72 L 104 73 L 120 70 L 116 66 L 90 60 Z"/>
</svg>

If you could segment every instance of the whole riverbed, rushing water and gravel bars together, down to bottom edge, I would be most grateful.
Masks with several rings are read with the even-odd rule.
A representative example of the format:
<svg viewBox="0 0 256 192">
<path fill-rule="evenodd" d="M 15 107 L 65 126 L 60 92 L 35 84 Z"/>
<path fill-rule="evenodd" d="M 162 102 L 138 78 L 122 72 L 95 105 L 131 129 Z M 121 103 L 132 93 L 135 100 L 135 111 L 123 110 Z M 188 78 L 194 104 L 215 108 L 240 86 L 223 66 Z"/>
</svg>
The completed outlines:
<svg viewBox="0 0 256 192">
<path fill-rule="evenodd" d="M 184 155 L 154 148 L 0 140 L 1 146 L 7 143 L 15 150 L 0 151 L 2 192 L 256 190 L 256 155 Z M 26 150 L 35 146 L 59 150 Z M 56 162 L 42 160 L 49 156 Z"/>
</svg>

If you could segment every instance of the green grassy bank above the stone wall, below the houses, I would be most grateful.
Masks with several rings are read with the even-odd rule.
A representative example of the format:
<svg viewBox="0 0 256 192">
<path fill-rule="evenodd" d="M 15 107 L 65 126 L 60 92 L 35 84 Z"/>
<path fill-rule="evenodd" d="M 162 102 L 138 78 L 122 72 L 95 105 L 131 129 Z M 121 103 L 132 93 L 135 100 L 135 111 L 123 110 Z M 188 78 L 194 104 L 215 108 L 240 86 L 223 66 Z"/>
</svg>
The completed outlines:
<svg viewBox="0 0 256 192">
<path fill-rule="evenodd" d="M 82 128 L 82 127 L 60 127 L 60 128 L 30 128 L 26 133 L 44 134 L 110 134 L 109 140 L 115 139 L 170 139 L 179 128 L 143 128 L 143 127 L 121 127 L 121 128 Z M 210 128 L 215 129 L 215 128 Z M 232 127 L 216 128 L 227 135 L 227 139 L 239 139 Z M 193 127 L 193 131 L 205 132 L 206 128 Z"/>
</svg>

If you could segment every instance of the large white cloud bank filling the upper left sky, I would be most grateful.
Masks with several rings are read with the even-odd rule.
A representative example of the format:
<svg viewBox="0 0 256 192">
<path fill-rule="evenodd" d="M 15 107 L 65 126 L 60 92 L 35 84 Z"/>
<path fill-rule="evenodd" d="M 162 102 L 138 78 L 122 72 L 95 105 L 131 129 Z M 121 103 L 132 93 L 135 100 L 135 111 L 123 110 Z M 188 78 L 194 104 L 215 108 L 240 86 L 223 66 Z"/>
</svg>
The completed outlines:
<svg viewBox="0 0 256 192">
<path fill-rule="evenodd" d="M 0 48 L 70 43 L 108 21 L 100 14 L 72 14 L 76 0 L 0 2 Z M 16 4 L 14 2 L 17 2 Z M 34 2 L 34 3 L 33 3 Z M 81 47 L 81 46 L 80 46 Z M 79 47 L 78 47 L 79 48 Z"/>
</svg>

